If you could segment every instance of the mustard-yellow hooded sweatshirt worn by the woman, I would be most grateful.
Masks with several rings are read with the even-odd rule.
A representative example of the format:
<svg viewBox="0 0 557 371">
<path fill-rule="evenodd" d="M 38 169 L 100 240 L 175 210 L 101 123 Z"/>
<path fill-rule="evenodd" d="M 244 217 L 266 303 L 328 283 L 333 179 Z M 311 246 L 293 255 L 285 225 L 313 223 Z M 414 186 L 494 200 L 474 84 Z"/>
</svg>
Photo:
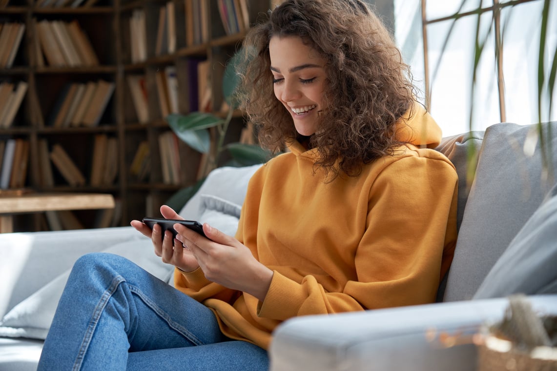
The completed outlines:
<svg viewBox="0 0 557 371">
<path fill-rule="evenodd" d="M 316 151 L 298 142 L 253 175 L 236 238 L 274 272 L 263 302 L 201 269 L 176 270 L 176 287 L 213 309 L 228 337 L 265 349 L 295 316 L 432 303 L 455 249 L 458 178 L 441 153 L 420 148 L 441 130 L 417 107 L 399 122 L 409 144 L 357 177 L 325 181 Z"/>
</svg>

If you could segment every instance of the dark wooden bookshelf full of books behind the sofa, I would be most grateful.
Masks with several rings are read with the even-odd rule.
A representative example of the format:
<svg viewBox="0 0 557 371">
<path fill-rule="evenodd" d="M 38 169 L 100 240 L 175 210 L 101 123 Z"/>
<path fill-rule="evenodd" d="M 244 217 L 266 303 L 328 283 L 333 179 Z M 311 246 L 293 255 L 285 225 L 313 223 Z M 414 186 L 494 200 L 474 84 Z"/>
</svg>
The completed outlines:
<svg viewBox="0 0 557 371">
<path fill-rule="evenodd" d="M 0 50 L 9 50 L 0 53 L 0 185 L 4 176 L 9 190 L 12 184 L 37 192 L 111 194 L 119 210 L 112 225 L 157 216 L 159 205 L 196 182 L 202 157 L 168 134 L 164 115 L 219 112 L 227 60 L 247 27 L 278 2 L 0 2 Z M 223 22 L 224 8 L 244 4 Z M 4 29 L 10 32 L 3 35 Z M 6 102 L 17 107 L 2 121 Z M 237 140 L 243 117 L 233 120 L 230 136 Z M 27 150 L 19 150 L 25 155 L 12 167 L 25 174 L 2 174 L 10 162 L 6 147 L 16 147 L 8 142 L 16 141 L 26 142 Z M 16 158 L 13 152 L 9 159 Z M 62 170 L 61 158 L 69 158 L 85 181 L 75 171 L 72 178 L 67 162 Z M 95 226 L 95 215 L 80 211 L 77 217 Z M 13 227 L 44 230 L 48 223 L 41 215 L 16 215 Z"/>
</svg>

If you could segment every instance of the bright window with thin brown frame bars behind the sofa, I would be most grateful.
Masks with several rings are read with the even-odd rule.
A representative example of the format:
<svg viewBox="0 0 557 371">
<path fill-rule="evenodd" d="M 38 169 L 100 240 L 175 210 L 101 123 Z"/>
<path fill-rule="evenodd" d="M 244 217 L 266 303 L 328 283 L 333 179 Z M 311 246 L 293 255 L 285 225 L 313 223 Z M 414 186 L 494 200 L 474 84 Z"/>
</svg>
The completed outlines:
<svg viewBox="0 0 557 371">
<path fill-rule="evenodd" d="M 395 38 L 443 135 L 506 121 L 538 122 L 538 60 L 544 0 L 394 0 Z M 557 47 L 557 2 L 549 1 L 541 121 Z M 423 17 L 422 17 L 423 14 Z M 455 21 L 455 14 L 458 19 Z M 478 24 L 479 19 L 479 24 Z M 423 32 L 425 30 L 425 32 Z M 483 44 L 476 68 L 476 30 Z M 500 61 L 497 60 L 500 52 Z M 425 55 L 425 58 L 424 58 Z M 472 88 L 473 74 L 476 83 Z M 553 92 L 554 105 L 557 93 Z"/>
</svg>

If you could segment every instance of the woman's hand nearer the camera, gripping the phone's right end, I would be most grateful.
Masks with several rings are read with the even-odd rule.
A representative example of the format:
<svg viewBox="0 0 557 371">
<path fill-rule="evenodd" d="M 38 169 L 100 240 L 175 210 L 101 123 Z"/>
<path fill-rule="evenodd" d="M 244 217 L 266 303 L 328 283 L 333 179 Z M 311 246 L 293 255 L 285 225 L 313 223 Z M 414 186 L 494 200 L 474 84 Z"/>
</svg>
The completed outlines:
<svg viewBox="0 0 557 371">
<path fill-rule="evenodd" d="M 273 271 L 255 259 L 247 246 L 207 223 L 203 224 L 207 238 L 180 224 L 174 224 L 174 229 L 196 257 L 205 278 L 265 300 Z"/>
</svg>

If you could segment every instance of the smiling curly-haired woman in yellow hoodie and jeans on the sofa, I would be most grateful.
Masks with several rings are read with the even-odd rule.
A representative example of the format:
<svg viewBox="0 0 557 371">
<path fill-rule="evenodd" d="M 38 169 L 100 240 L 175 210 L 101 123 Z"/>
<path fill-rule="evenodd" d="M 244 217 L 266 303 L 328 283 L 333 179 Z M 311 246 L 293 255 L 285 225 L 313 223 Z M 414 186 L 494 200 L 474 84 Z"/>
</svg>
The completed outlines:
<svg viewBox="0 0 557 371">
<path fill-rule="evenodd" d="M 131 222 L 178 290 L 118 256 L 78 260 L 40 370 L 265 369 L 286 319 L 434 301 L 457 175 L 379 19 L 359 0 L 287 0 L 244 45 L 243 107 L 289 152 L 252 177 L 235 238 Z"/>
</svg>

